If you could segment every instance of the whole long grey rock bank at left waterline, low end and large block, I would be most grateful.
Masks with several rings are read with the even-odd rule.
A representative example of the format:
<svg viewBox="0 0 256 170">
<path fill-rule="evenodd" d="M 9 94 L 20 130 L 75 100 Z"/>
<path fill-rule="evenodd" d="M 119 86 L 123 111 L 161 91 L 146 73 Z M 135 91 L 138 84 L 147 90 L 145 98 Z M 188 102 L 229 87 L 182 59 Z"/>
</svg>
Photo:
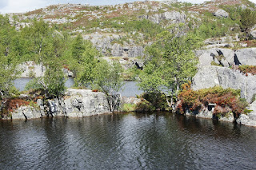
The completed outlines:
<svg viewBox="0 0 256 170">
<path fill-rule="evenodd" d="M 86 117 L 110 113 L 110 106 L 104 93 L 90 89 L 67 89 L 65 97 L 49 101 L 38 99 L 37 106 L 22 106 L 14 110 L 12 119 L 33 119 L 40 117 Z"/>
</svg>

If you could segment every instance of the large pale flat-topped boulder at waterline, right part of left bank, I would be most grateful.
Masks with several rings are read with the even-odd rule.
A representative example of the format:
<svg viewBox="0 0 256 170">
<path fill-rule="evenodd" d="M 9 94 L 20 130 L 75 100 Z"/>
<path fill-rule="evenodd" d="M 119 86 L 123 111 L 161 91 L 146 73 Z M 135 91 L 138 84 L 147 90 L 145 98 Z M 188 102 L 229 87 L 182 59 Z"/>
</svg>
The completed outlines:
<svg viewBox="0 0 256 170">
<path fill-rule="evenodd" d="M 64 99 L 50 101 L 50 115 L 86 117 L 110 113 L 110 106 L 104 93 L 93 92 L 90 89 L 67 89 L 65 95 Z"/>
</svg>

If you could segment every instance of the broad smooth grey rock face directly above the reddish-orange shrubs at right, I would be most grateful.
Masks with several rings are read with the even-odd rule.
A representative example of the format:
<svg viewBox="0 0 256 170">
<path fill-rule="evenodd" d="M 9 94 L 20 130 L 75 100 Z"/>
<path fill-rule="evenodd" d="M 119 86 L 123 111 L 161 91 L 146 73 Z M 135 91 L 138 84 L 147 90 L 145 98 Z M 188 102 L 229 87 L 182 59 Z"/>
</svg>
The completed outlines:
<svg viewBox="0 0 256 170">
<path fill-rule="evenodd" d="M 241 97 L 251 102 L 256 93 L 256 76 L 248 76 L 238 70 L 218 66 L 202 66 L 193 77 L 192 89 L 206 89 L 216 85 L 224 89 L 241 89 Z"/>
</svg>

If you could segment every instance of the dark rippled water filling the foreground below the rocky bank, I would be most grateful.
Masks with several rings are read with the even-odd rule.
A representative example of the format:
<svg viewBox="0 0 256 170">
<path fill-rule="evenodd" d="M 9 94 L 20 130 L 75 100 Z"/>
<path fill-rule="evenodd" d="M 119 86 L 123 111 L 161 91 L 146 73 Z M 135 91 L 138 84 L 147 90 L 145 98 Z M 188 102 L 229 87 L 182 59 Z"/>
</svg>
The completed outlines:
<svg viewBox="0 0 256 170">
<path fill-rule="evenodd" d="M 170 113 L 0 121 L 0 169 L 256 169 L 256 128 Z"/>
</svg>

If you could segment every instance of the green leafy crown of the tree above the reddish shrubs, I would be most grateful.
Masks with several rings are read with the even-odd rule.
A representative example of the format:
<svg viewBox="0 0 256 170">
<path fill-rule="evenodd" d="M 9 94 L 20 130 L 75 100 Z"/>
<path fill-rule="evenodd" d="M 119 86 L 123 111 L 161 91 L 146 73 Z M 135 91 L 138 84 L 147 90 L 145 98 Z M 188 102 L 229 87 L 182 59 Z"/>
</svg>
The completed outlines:
<svg viewBox="0 0 256 170">
<path fill-rule="evenodd" d="M 182 28 L 178 26 L 178 30 Z M 148 93 L 159 93 L 162 87 L 178 91 L 179 86 L 196 73 L 198 59 L 193 49 L 200 46 L 200 39 L 194 34 L 177 37 L 177 28 L 170 29 L 174 34 L 169 31 L 158 34 L 158 41 L 146 49 L 150 58 L 138 85 Z"/>
</svg>

